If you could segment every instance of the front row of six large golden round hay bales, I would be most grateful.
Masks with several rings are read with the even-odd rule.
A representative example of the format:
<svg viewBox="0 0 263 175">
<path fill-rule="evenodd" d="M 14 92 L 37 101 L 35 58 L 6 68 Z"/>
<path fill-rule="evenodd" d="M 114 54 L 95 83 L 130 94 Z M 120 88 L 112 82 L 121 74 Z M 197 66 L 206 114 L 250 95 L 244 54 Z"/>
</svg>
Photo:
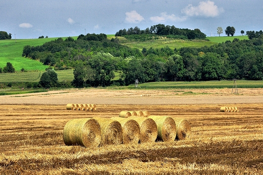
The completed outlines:
<svg viewBox="0 0 263 175">
<path fill-rule="evenodd" d="M 79 118 L 64 126 L 65 145 L 98 147 L 155 141 L 184 140 L 191 134 L 188 120 L 168 116 Z"/>
</svg>

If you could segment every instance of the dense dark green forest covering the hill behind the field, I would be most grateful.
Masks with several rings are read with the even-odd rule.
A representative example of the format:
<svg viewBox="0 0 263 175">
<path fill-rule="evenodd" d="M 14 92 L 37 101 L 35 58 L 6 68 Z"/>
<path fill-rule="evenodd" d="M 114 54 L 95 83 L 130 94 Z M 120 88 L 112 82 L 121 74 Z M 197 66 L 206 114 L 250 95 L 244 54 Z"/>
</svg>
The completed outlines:
<svg viewBox="0 0 263 175">
<path fill-rule="evenodd" d="M 233 37 L 234 38 L 234 37 Z M 263 36 L 226 41 L 202 48 L 131 49 L 105 34 L 58 38 L 42 46 L 26 46 L 23 56 L 39 59 L 56 69 L 74 68 L 75 86 L 107 86 L 116 72 L 117 84 L 138 79 L 151 81 L 195 81 L 263 79 Z"/>
</svg>

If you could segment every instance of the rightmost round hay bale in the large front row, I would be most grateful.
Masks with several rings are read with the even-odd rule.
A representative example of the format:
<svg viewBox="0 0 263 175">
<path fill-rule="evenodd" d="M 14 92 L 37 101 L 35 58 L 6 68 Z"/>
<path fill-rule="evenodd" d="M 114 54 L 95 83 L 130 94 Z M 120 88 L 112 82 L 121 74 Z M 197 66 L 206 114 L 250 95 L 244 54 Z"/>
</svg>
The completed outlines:
<svg viewBox="0 0 263 175">
<path fill-rule="evenodd" d="M 176 122 L 177 134 L 176 140 L 185 140 L 191 135 L 190 122 L 184 118 L 173 118 Z"/>
</svg>

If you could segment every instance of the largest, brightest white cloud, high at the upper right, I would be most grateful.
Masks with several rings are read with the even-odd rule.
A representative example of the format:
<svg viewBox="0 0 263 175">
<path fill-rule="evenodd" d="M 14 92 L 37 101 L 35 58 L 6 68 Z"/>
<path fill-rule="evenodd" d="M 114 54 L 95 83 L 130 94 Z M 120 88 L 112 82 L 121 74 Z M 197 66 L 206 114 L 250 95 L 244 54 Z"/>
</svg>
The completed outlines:
<svg viewBox="0 0 263 175">
<path fill-rule="evenodd" d="M 205 17 L 216 17 L 220 13 L 224 12 L 223 8 L 218 8 L 211 1 L 202 1 L 198 6 L 188 5 L 182 10 L 187 16 L 205 16 Z"/>
</svg>

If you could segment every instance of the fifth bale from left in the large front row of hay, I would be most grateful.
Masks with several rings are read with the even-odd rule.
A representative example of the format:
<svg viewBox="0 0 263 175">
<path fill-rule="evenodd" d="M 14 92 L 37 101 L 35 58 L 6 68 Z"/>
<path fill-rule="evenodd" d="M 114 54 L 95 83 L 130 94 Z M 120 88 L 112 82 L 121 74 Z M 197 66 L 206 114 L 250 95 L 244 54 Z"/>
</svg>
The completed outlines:
<svg viewBox="0 0 263 175">
<path fill-rule="evenodd" d="M 177 134 L 176 122 L 168 116 L 149 116 L 157 124 L 157 141 L 174 141 Z"/>
</svg>

